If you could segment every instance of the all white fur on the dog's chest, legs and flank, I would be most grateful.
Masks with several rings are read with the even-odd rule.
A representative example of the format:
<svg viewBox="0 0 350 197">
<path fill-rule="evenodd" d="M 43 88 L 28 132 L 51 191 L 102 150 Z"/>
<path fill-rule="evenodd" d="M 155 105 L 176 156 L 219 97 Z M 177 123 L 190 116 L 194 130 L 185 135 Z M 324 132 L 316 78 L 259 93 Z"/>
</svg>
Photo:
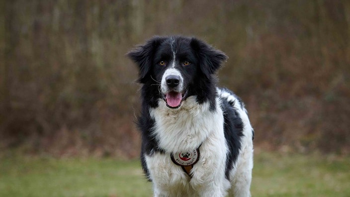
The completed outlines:
<svg viewBox="0 0 350 197">
<path fill-rule="evenodd" d="M 170 69 L 169 69 L 170 70 Z M 154 136 L 166 154 L 146 156 L 150 179 L 154 183 L 155 197 L 224 197 L 232 187 L 236 197 L 249 197 L 253 168 L 252 127 L 245 109 L 235 102 L 244 122 L 244 137 L 240 155 L 230 173 L 231 184 L 225 178 L 228 146 L 224 137 L 221 99 L 237 99 L 227 92 L 217 90 L 216 110 L 209 103 L 198 104 L 194 96 L 185 99 L 177 109 L 170 109 L 162 99 L 159 106 L 151 108 L 155 119 Z M 200 146 L 201 145 L 201 146 Z M 199 147 L 199 161 L 191 170 L 192 178 L 176 166 L 170 153 L 193 150 Z"/>
</svg>

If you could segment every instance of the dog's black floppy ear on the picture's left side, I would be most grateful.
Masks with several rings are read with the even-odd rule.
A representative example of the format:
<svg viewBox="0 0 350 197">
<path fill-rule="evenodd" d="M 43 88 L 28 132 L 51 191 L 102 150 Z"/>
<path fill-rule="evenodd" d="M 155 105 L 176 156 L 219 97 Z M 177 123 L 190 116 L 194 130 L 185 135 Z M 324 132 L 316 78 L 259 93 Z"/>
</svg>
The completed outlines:
<svg viewBox="0 0 350 197">
<path fill-rule="evenodd" d="M 155 36 L 146 41 L 145 44 L 138 45 L 135 49 L 126 54 L 139 66 L 140 72 L 138 82 L 146 83 L 146 79 L 150 76 L 155 51 L 163 40 L 164 38 Z"/>
</svg>

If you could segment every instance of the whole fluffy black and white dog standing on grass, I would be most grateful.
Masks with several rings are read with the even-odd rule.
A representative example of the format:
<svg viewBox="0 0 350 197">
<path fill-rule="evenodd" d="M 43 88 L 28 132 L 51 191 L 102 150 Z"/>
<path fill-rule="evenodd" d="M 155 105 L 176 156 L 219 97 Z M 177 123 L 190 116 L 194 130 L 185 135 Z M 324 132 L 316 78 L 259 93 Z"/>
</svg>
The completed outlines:
<svg viewBox="0 0 350 197">
<path fill-rule="evenodd" d="M 140 69 L 141 161 L 155 197 L 249 197 L 254 131 L 240 98 L 216 87 L 227 56 L 196 38 L 153 37 Z"/>
</svg>

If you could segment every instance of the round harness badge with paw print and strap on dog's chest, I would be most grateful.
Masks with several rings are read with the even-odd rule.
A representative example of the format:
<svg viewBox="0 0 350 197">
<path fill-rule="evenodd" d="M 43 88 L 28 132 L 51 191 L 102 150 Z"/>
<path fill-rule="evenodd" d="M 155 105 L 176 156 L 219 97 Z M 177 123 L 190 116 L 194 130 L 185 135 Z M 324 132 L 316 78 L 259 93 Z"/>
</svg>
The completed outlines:
<svg viewBox="0 0 350 197">
<path fill-rule="evenodd" d="M 183 151 L 171 153 L 170 157 L 174 164 L 181 166 L 182 170 L 190 177 L 190 171 L 193 168 L 193 165 L 199 160 L 199 147 L 192 151 Z"/>
</svg>

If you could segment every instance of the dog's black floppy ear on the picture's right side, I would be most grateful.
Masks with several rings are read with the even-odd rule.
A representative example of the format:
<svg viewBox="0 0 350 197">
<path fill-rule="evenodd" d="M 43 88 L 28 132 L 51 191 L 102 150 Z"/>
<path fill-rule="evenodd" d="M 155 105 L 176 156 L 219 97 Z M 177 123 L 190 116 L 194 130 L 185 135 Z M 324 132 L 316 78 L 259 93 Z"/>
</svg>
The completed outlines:
<svg viewBox="0 0 350 197">
<path fill-rule="evenodd" d="M 191 47 L 196 51 L 199 58 L 200 70 L 208 79 L 228 58 L 224 52 L 196 38 L 191 39 Z"/>
</svg>

